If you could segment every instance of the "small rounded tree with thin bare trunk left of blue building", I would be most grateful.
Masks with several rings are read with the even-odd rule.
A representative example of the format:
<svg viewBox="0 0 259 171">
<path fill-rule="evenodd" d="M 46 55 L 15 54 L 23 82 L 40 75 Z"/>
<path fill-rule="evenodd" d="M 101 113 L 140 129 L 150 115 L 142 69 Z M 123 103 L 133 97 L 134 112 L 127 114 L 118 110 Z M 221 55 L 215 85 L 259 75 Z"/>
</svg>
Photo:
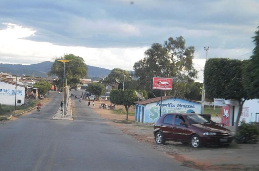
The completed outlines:
<svg viewBox="0 0 259 171">
<path fill-rule="evenodd" d="M 124 105 L 126 110 L 126 120 L 128 120 L 128 112 L 131 105 L 137 101 L 135 90 L 112 90 L 110 100 L 113 104 Z"/>
</svg>

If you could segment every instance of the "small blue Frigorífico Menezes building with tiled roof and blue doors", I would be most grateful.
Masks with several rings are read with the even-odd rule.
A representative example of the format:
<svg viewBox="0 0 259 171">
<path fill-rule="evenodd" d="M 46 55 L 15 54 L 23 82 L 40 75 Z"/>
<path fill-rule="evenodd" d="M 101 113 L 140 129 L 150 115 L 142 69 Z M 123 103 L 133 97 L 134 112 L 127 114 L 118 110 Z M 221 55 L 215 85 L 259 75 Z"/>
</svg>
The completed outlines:
<svg viewBox="0 0 259 171">
<path fill-rule="evenodd" d="M 143 123 L 154 123 L 160 118 L 161 97 L 135 102 L 135 120 Z M 179 97 L 163 96 L 161 115 L 166 113 L 200 113 L 201 104 Z"/>
</svg>

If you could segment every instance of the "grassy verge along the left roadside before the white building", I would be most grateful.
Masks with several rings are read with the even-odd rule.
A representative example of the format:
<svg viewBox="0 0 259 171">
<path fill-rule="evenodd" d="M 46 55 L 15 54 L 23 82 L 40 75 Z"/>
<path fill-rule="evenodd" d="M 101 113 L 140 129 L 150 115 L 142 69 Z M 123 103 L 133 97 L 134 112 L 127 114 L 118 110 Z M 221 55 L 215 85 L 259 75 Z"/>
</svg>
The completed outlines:
<svg viewBox="0 0 259 171">
<path fill-rule="evenodd" d="M 16 106 L 16 110 L 15 110 L 15 106 L 1 105 L 0 116 L 4 118 L 10 114 L 22 113 L 23 111 L 29 110 L 31 107 L 37 106 L 38 102 L 39 100 L 31 99 L 21 106 Z"/>
</svg>

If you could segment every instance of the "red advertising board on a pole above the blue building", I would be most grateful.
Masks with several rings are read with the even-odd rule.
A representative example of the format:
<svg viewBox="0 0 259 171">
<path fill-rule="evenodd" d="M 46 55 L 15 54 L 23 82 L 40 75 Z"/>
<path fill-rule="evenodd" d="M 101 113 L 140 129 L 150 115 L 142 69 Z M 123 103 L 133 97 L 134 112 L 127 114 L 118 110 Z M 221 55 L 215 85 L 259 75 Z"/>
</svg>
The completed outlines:
<svg viewBox="0 0 259 171">
<path fill-rule="evenodd" d="M 173 79 L 172 78 L 153 78 L 153 89 L 156 90 L 172 90 Z"/>
</svg>

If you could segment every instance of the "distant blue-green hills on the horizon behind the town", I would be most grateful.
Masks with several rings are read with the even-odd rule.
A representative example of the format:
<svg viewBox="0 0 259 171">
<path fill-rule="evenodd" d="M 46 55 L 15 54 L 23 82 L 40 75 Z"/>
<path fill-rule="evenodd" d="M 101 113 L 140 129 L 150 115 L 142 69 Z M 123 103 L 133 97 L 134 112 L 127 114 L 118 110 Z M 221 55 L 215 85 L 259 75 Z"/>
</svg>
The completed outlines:
<svg viewBox="0 0 259 171">
<path fill-rule="evenodd" d="M 33 75 L 35 77 L 47 77 L 53 62 L 45 61 L 38 64 L 21 65 L 21 64 L 0 64 L 0 72 L 10 73 L 13 75 Z M 111 70 L 87 65 L 87 77 L 104 78 L 109 75 Z"/>
</svg>

